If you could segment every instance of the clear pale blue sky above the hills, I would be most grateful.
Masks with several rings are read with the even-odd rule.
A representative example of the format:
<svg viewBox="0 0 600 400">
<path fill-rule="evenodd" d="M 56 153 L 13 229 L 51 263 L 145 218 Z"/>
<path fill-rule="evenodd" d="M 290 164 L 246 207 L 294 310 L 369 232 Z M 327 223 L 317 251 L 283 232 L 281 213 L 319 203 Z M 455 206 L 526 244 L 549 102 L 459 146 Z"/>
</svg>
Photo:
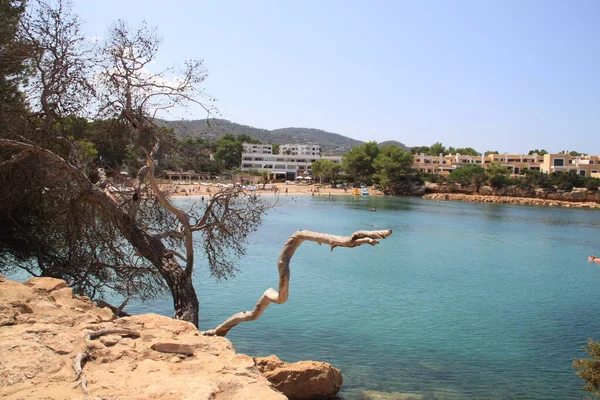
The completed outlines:
<svg viewBox="0 0 600 400">
<path fill-rule="evenodd" d="M 220 117 L 362 141 L 600 154 L 599 0 L 73 0 L 83 31 L 158 27 Z M 173 118 L 203 119 L 198 109 Z"/>
</svg>

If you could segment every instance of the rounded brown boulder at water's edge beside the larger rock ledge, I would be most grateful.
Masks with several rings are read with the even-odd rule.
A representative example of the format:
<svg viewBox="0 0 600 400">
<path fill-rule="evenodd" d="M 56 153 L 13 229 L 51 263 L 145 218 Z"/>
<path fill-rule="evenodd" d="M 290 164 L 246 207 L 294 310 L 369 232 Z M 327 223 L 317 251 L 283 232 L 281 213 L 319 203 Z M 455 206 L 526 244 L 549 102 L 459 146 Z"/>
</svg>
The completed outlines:
<svg viewBox="0 0 600 400">
<path fill-rule="evenodd" d="M 316 361 L 286 363 L 276 356 L 255 358 L 256 367 L 275 389 L 293 399 L 324 399 L 342 387 L 342 373 L 331 364 Z"/>
</svg>

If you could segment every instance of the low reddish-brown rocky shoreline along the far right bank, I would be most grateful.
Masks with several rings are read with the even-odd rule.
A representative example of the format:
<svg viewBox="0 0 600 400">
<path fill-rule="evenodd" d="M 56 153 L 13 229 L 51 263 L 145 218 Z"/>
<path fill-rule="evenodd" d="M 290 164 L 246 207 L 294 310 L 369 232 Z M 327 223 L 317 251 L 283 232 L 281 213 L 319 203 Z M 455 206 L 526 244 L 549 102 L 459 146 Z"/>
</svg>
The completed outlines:
<svg viewBox="0 0 600 400">
<path fill-rule="evenodd" d="M 429 200 L 450 200 L 467 201 L 473 203 L 500 203 L 500 204 L 521 204 L 531 206 L 550 206 L 550 207 L 570 207 L 570 208 L 597 208 L 600 209 L 600 203 L 593 201 L 566 201 L 539 199 L 531 197 L 512 197 L 512 196 L 492 196 L 478 194 L 462 193 L 429 193 L 423 196 Z"/>
</svg>

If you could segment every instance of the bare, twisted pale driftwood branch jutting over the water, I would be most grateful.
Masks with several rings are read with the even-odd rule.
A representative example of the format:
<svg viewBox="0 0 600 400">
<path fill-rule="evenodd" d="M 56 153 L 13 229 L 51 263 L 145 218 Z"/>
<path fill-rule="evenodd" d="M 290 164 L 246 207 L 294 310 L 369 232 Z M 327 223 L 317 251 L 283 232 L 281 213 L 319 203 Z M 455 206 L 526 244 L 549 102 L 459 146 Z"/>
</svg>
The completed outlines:
<svg viewBox="0 0 600 400">
<path fill-rule="evenodd" d="M 391 229 L 382 231 L 358 231 L 354 232 L 352 236 L 336 236 L 311 231 L 295 232 L 285 242 L 285 245 L 279 254 L 279 261 L 277 262 L 277 268 L 279 270 L 279 292 L 273 288 L 267 289 L 254 306 L 254 309 L 232 315 L 215 329 L 204 331 L 202 333 L 207 336 L 225 336 L 231 328 L 239 323 L 258 319 L 269 304 L 285 303 L 289 296 L 290 260 L 302 242 L 310 241 L 319 244 L 328 244 L 331 247 L 331 250 L 333 250 L 336 247 L 357 247 L 363 244 L 375 246 L 379 243 L 377 239 L 385 239 L 391 234 Z"/>
</svg>

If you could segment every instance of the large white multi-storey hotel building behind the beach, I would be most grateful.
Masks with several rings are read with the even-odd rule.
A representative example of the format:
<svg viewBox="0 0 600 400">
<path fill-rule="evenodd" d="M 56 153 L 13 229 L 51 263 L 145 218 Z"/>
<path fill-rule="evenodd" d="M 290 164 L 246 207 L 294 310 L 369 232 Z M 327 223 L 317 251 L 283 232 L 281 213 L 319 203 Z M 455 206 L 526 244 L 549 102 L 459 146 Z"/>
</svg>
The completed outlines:
<svg viewBox="0 0 600 400">
<path fill-rule="evenodd" d="M 267 152 L 260 153 L 258 148 L 246 147 L 244 143 L 244 152 L 242 153 L 242 171 L 249 171 L 251 169 L 257 169 L 259 171 L 267 171 L 275 176 L 276 179 L 295 180 L 298 175 L 310 174 L 312 169 L 312 163 L 317 160 L 329 160 L 335 163 L 341 163 L 342 157 L 340 156 L 321 156 L 320 146 L 308 145 L 312 148 L 317 148 L 317 154 L 301 155 L 301 154 L 283 154 L 281 149 L 280 154 L 273 154 L 271 146 L 268 147 Z M 261 145 L 249 145 L 249 146 L 261 146 Z M 288 148 L 306 145 L 286 145 Z M 250 151 L 248 151 L 250 150 Z M 313 151 L 314 152 L 314 151 Z"/>
</svg>

